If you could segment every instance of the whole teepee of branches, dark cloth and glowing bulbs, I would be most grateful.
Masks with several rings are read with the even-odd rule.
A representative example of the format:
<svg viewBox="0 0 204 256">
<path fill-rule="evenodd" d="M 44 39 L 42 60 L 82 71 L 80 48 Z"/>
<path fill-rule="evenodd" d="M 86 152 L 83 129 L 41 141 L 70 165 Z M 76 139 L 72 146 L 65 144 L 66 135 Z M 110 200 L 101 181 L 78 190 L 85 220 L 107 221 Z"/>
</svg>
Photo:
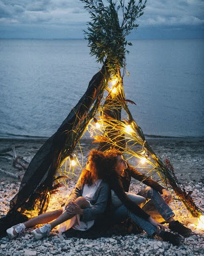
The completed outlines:
<svg viewBox="0 0 204 256">
<path fill-rule="evenodd" d="M 50 137 L 31 160 L 23 177 L 19 192 L 11 200 L 7 218 L 17 213 L 26 213 L 29 216 L 31 209 L 37 214 L 46 211 L 51 193 L 56 190 L 56 173 L 62 164 L 71 156 L 79 139 L 88 129 L 94 134 L 95 143 L 99 143 L 102 151 L 110 148 L 119 148 L 130 159 L 143 159 L 149 164 L 151 176 L 157 173 L 163 186 L 175 192 L 184 203 L 189 212 L 198 217 L 200 209 L 196 207 L 193 199 L 183 191 L 167 161 L 164 164 L 157 156 L 144 137 L 142 129 L 137 125 L 128 108 L 125 99 L 123 76 L 125 74 L 125 36 L 137 26 L 135 20 L 143 14 L 146 0 L 129 0 L 127 7 L 124 0 L 81 0 L 85 8 L 89 9 L 92 22 L 89 22 L 88 36 L 91 55 L 96 55 L 97 61 L 103 64 L 102 69 L 96 73 L 89 82 L 88 88 L 77 105 L 71 110 L 57 132 Z M 118 11 L 122 10 L 123 20 L 119 23 Z M 120 70 L 123 67 L 123 75 Z M 128 73 L 127 73 L 128 74 Z M 109 83 L 115 79 L 110 88 Z M 104 99 L 105 91 L 108 96 Z M 121 120 L 121 111 L 127 114 L 127 119 Z M 102 128 L 96 128 L 92 120 L 98 119 Z M 127 128 L 129 130 L 127 131 Z M 136 147 L 136 149 L 135 149 Z M 8 221 L 8 219 L 7 219 Z M 16 219 L 18 222 L 18 219 Z"/>
</svg>

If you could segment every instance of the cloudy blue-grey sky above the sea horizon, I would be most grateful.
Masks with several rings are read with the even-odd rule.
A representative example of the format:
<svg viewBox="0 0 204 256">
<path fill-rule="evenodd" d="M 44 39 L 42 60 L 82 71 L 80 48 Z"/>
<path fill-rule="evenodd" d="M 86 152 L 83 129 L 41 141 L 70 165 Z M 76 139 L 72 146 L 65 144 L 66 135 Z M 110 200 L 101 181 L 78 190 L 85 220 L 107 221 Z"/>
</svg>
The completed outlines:
<svg viewBox="0 0 204 256">
<path fill-rule="evenodd" d="M 0 38 L 83 38 L 88 20 L 79 0 L 0 0 Z M 138 23 L 131 38 L 204 38 L 204 0 L 147 0 Z"/>
</svg>

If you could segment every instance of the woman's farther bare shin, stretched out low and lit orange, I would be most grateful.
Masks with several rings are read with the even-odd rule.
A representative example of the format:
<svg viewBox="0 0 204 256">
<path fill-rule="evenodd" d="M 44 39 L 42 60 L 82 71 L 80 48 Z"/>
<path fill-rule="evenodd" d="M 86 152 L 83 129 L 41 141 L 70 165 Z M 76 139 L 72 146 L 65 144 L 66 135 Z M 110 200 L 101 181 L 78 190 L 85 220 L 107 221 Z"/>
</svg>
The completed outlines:
<svg viewBox="0 0 204 256">
<path fill-rule="evenodd" d="M 61 214 L 62 214 L 62 208 L 59 208 L 59 209 L 57 209 L 55 211 L 52 211 L 52 212 L 42 213 L 39 216 L 34 217 L 31 220 L 24 222 L 23 224 L 26 227 L 32 227 L 32 226 L 35 226 L 35 225 L 38 225 L 38 224 L 45 224 L 45 223 L 48 223 L 50 221 L 55 220 Z"/>
</svg>

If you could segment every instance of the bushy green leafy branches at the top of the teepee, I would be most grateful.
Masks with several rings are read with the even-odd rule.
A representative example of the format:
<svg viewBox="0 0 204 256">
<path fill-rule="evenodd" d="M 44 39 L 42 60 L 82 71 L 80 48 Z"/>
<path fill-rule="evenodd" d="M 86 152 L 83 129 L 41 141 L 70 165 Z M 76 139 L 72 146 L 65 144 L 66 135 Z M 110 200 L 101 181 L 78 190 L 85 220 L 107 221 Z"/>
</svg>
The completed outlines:
<svg viewBox="0 0 204 256">
<path fill-rule="evenodd" d="M 106 4 L 103 0 L 80 1 L 85 3 L 85 9 L 91 15 L 88 30 L 84 31 L 91 55 L 95 55 L 100 63 L 106 59 L 110 72 L 114 74 L 125 65 L 125 53 L 129 53 L 126 46 L 132 45 L 125 37 L 139 26 L 135 22 L 143 15 L 147 0 L 139 0 L 137 5 L 135 0 L 129 0 L 126 6 L 125 0 L 106 0 Z"/>
</svg>

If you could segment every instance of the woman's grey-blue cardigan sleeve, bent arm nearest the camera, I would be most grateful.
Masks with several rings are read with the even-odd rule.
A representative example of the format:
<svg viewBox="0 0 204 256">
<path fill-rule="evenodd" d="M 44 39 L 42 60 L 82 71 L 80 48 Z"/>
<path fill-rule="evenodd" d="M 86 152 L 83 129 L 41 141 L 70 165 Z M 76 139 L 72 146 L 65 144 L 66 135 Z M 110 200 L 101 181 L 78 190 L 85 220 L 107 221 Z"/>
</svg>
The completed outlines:
<svg viewBox="0 0 204 256">
<path fill-rule="evenodd" d="M 85 208 L 82 210 L 81 221 L 91 221 L 96 217 L 105 212 L 107 203 L 108 203 L 108 191 L 109 186 L 107 183 L 104 183 L 99 192 L 99 197 L 97 198 L 96 204 L 92 205 L 90 208 Z"/>
</svg>

